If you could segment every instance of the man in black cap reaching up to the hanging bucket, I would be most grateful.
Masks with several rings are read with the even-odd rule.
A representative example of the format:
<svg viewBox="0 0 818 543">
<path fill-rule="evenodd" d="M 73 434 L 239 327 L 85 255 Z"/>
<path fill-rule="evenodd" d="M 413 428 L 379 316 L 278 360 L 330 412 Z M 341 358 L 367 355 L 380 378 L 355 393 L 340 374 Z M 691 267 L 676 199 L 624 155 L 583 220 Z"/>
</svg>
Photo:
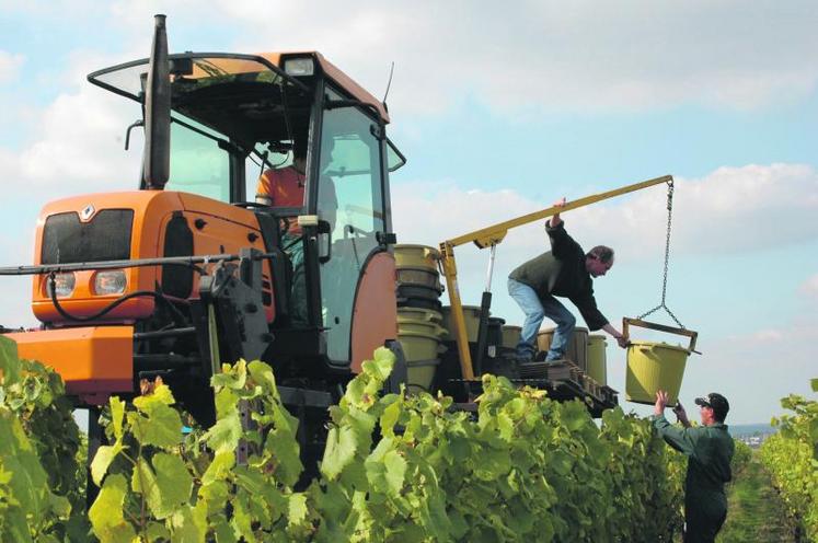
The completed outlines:
<svg viewBox="0 0 818 543">
<path fill-rule="evenodd" d="M 683 428 L 665 418 L 667 392 L 656 393 L 654 426 L 667 443 L 688 457 L 684 478 L 684 542 L 712 542 L 727 518 L 724 484 L 733 478 L 730 460 L 735 443 L 724 419 L 730 405 L 722 394 L 696 397 L 702 426 L 692 427 L 680 403 L 673 407 Z"/>
</svg>

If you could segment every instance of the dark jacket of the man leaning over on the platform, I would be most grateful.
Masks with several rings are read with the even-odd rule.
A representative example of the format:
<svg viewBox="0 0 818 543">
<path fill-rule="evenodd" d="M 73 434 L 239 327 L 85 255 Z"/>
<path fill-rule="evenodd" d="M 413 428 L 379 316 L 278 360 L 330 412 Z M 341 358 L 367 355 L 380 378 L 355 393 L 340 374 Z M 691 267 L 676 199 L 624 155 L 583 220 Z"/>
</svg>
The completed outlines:
<svg viewBox="0 0 818 543">
<path fill-rule="evenodd" d="M 508 276 L 528 285 L 537 296 L 560 296 L 571 300 L 594 332 L 608 324 L 608 319 L 597 309 L 594 298 L 594 279 L 585 268 L 585 251 L 565 231 L 564 222 L 555 228 L 546 224 L 551 251 L 520 265 Z"/>
</svg>

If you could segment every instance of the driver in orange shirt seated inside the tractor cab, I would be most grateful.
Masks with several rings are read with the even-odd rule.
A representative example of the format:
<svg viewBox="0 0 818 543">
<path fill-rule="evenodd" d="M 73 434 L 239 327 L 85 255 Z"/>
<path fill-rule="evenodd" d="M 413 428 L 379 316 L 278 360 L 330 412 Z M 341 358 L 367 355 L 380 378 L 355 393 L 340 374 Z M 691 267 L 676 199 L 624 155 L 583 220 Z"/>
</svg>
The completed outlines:
<svg viewBox="0 0 818 543">
<path fill-rule="evenodd" d="M 322 160 L 323 171 L 332 157 L 327 149 Z M 286 167 L 266 170 L 258 177 L 255 201 L 272 207 L 303 207 L 307 182 L 307 138 L 296 138 L 292 146 L 292 164 Z M 332 182 L 322 184 L 322 200 L 335 200 L 335 186 Z M 331 217 L 331 224 L 335 219 Z M 307 316 L 307 280 L 304 277 L 304 246 L 301 240 L 301 227 L 295 218 L 284 220 L 281 249 L 292 264 L 292 290 L 290 292 L 290 315 L 293 325 L 306 326 Z"/>
</svg>

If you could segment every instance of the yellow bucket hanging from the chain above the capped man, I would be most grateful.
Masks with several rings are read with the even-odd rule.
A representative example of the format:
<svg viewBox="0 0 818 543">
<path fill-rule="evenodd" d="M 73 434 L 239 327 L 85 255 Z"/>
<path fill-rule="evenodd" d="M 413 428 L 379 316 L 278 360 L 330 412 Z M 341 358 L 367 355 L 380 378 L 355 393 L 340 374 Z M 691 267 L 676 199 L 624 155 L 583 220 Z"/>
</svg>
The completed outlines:
<svg viewBox="0 0 818 543">
<path fill-rule="evenodd" d="M 625 398 L 637 404 L 656 403 L 656 391 L 668 393 L 668 405 L 679 398 L 684 365 L 690 351 L 677 345 L 631 342 L 627 347 Z"/>
</svg>

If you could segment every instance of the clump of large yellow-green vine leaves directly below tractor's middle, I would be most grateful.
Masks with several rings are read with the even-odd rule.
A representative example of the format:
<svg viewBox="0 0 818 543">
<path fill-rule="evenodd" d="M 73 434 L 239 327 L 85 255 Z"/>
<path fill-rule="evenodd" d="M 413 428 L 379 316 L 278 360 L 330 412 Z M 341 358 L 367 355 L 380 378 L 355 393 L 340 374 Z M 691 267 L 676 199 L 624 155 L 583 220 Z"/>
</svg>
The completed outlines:
<svg viewBox="0 0 818 543">
<path fill-rule="evenodd" d="M 266 541 L 306 519 L 306 499 L 292 492 L 302 471 L 297 424 L 270 368 L 240 360 L 212 382 L 218 421 L 187 439 L 166 385 L 131 405 L 111 398 L 112 444 L 91 464 L 102 483 L 89 511 L 100 541 Z M 252 425 L 242 427 L 242 409 Z M 237 465 L 240 442 L 251 453 Z"/>
</svg>

